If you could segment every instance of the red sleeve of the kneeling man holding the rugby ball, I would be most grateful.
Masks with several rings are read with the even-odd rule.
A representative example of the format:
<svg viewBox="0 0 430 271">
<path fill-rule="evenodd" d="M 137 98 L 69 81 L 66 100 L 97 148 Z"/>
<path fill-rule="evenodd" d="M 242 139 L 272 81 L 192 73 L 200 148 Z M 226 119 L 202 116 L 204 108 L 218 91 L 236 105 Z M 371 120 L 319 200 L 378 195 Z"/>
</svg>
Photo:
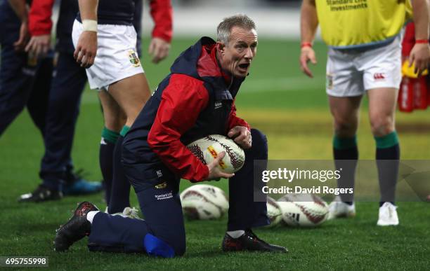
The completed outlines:
<svg viewBox="0 0 430 271">
<path fill-rule="evenodd" d="M 163 91 L 148 144 L 162 162 L 183 179 L 202 181 L 209 176 L 209 169 L 179 139 L 193 127 L 207 106 L 209 94 L 202 81 L 190 76 L 174 74 L 170 81 Z"/>
</svg>

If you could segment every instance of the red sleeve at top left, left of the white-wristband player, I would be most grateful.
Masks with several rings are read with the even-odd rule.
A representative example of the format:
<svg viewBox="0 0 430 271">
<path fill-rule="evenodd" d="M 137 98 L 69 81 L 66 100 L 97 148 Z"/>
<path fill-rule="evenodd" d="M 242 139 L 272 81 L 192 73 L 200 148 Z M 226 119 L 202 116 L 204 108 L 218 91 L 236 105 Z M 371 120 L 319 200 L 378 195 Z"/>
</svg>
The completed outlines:
<svg viewBox="0 0 430 271">
<path fill-rule="evenodd" d="M 54 0 L 33 0 L 28 15 L 28 28 L 31 36 L 51 34 L 52 7 Z"/>
</svg>

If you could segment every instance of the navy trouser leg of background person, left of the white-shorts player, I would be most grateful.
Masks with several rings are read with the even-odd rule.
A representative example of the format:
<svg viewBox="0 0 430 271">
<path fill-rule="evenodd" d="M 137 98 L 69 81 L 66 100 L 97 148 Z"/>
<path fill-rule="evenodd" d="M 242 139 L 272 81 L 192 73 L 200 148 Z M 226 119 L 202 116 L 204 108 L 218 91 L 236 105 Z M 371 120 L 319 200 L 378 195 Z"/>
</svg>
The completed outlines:
<svg viewBox="0 0 430 271">
<path fill-rule="evenodd" d="M 39 172 L 46 186 L 65 181 L 85 83 L 85 71 L 77 66 L 73 56 L 60 53 L 52 78 L 46 115 L 45 153 Z"/>
</svg>

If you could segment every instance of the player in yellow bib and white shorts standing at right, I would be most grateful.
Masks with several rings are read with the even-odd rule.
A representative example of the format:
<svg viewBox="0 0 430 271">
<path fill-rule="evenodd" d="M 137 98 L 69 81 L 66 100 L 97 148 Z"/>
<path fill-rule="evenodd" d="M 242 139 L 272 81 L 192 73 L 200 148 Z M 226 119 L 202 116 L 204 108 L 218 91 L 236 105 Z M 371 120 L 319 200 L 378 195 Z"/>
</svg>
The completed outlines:
<svg viewBox="0 0 430 271">
<path fill-rule="evenodd" d="M 316 63 L 312 42 L 318 24 L 329 46 L 326 90 L 334 119 L 334 160 L 337 169 L 343 169 L 339 188 L 354 186 L 358 112 L 363 95 L 367 93 L 369 98 L 381 192 L 377 225 L 398 225 L 394 200 L 400 147 L 394 113 L 401 79 L 401 32 L 408 4 L 395 0 L 358 4 L 304 0 L 301 6 L 300 64 L 307 76 L 312 77 L 308 62 Z M 411 50 L 410 62 L 421 74 L 430 58 L 428 3 L 412 0 L 412 9 L 418 42 Z M 355 214 L 353 195 L 341 195 L 330 204 L 330 218 Z"/>
</svg>

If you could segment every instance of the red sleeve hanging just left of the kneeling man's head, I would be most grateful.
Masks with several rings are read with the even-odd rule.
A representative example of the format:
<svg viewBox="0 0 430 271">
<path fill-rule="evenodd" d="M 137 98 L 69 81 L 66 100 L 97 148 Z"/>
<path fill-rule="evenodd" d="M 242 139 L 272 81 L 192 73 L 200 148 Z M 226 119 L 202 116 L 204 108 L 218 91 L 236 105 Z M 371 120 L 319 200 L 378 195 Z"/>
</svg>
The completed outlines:
<svg viewBox="0 0 430 271">
<path fill-rule="evenodd" d="M 154 20 L 152 38 L 157 37 L 170 43 L 173 32 L 173 11 L 170 0 L 150 1 L 150 13 L 152 20 Z"/>
</svg>

